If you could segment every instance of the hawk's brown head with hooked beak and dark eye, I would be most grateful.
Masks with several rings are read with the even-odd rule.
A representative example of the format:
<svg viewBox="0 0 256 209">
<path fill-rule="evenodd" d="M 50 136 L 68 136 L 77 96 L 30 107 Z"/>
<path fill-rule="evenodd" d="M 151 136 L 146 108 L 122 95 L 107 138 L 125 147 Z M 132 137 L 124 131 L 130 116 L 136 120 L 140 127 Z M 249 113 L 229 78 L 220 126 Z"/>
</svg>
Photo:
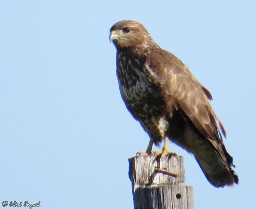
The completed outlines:
<svg viewBox="0 0 256 209">
<path fill-rule="evenodd" d="M 145 27 L 133 20 L 122 20 L 110 28 L 109 41 L 117 48 L 147 47 L 155 43 Z"/>
</svg>

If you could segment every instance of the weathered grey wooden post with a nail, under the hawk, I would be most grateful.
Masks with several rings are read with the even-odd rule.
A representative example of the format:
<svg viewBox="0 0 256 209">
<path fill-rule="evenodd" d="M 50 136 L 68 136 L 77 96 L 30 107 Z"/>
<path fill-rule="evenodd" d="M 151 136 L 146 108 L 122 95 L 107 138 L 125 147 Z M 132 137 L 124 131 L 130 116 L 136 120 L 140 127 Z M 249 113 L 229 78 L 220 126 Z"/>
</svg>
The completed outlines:
<svg viewBox="0 0 256 209">
<path fill-rule="evenodd" d="M 193 188 L 184 183 L 182 156 L 132 157 L 129 178 L 135 209 L 194 209 Z"/>
</svg>

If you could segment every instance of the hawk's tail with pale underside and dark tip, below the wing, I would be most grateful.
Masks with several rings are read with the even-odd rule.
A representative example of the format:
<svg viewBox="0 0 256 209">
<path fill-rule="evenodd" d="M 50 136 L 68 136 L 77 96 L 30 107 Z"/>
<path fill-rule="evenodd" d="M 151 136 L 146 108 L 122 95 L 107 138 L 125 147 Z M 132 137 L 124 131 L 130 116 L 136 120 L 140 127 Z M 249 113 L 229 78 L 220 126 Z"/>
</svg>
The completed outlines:
<svg viewBox="0 0 256 209">
<path fill-rule="evenodd" d="M 238 184 L 238 176 L 232 169 L 233 158 L 228 154 L 221 139 L 206 139 L 193 124 L 188 123 L 184 125 L 182 137 L 173 137 L 170 134 L 169 138 L 194 155 L 205 177 L 213 186 Z"/>
</svg>

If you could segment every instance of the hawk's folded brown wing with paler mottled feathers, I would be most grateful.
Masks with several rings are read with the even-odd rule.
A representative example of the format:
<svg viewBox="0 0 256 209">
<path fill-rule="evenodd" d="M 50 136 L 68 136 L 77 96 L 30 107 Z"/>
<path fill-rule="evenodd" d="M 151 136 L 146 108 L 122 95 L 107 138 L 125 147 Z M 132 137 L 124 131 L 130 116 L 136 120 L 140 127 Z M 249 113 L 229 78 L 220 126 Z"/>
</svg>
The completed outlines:
<svg viewBox="0 0 256 209">
<path fill-rule="evenodd" d="M 224 136 L 226 134 L 209 103 L 208 99 L 212 99 L 209 91 L 196 80 L 181 60 L 167 51 L 152 49 L 148 69 L 164 91 L 165 97 L 168 97 L 167 106 L 170 109 L 181 109 L 200 134 L 218 149 L 218 145 L 222 144 L 221 132 Z"/>
</svg>

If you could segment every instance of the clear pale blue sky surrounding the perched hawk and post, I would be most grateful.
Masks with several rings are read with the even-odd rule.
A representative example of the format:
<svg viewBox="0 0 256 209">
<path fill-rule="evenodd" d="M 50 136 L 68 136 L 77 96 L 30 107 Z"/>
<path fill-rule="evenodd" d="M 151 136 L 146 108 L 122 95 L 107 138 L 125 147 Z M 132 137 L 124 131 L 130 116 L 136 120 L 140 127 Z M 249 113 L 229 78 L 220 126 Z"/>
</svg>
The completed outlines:
<svg viewBox="0 0 256 209">
<path fill-rule="evenodd" d="M 0 203 L 133 208 L 128 158 L 149 138 L 120 97 L 108 39 L 132 19 L 208 88 L 227 131 L 233 188 L 211 186 L 169 145 L 184 156 L 195 208 L 255 205 L 255 10 L 253 0 L 1 1 Z"/>
</svg>

